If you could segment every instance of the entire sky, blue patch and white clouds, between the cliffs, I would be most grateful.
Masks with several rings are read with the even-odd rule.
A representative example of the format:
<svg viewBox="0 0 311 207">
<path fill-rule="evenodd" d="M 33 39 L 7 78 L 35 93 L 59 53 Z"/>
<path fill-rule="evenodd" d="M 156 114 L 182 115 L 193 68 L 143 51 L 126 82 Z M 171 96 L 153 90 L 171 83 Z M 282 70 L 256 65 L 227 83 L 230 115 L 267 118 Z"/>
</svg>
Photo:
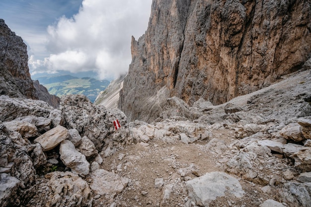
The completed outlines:
<svg viewBox="0 0 311 207">
<path fill-rule="evenodd" d="M 29 70 L 126 72 L 131 37 L 148 27 L 152 0 L 0 0 L 0 18 L 27 45 Z"/>
</svg>

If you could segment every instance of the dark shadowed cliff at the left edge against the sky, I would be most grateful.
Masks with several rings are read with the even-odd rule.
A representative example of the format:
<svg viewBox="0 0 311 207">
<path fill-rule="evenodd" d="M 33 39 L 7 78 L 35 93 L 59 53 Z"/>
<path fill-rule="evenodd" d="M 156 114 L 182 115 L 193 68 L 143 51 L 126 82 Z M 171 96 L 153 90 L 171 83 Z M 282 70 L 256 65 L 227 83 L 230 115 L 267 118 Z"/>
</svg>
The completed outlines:
<svg viewBox="0 0 311 207">
<path fill-rule="evenodd" d="M 0 19 L 0 95 L 40 99 L 57 107 L 58 97 L 50 95 L 39 83 L 35 88 L 27 62 L 27 46 Z"/>
</svg>

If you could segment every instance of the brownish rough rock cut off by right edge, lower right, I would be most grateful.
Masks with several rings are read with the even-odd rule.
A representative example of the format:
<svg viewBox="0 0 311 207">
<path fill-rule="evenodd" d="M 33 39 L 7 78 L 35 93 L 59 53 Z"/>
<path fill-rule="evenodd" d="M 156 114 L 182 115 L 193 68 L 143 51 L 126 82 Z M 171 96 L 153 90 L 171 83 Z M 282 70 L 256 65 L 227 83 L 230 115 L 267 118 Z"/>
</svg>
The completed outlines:
<svg viewBox="0 0 311 207">
<path fill-rule="evenodd" d="M 311 171 L 311 149 L 300 150 L 291 155 L 295 159 L 295 167 L 298 167 L 303 172 Z"/>
</svg>

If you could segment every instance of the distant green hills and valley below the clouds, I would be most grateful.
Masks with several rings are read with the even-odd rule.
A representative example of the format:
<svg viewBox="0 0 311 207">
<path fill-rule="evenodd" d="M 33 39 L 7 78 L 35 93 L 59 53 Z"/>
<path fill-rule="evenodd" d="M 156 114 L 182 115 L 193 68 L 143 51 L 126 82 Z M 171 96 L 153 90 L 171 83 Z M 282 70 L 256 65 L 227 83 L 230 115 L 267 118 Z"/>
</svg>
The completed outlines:
<svg viewBox="0 0 311 207">
<path fill-rule="evenodd" d="M 53 95 L 61 97 L 69 94 L 84 94 L 92 103 L 100 91 L 110 83 L 108 80 L 97 80 L 90 77 L 78 78 L 72 75 L 44 76 L 37 79 Z"/>
</svg>

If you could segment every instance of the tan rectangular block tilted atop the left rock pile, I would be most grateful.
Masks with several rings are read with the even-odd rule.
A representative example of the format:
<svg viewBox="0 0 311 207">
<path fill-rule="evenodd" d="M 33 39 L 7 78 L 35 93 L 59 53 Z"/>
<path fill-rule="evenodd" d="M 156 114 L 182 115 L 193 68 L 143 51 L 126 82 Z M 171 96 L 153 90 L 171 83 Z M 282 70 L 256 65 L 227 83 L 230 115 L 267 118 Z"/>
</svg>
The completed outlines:
<svg viewBox="0 0 311 207">
<path fill-rule="evenodd" d="M 49 151 L 68 138 L 68 136 L 68 130 L 65 127 L 57 126 L 36 138 L 34 142 L 40 143 L 43 151 Z"/>
</svg>

